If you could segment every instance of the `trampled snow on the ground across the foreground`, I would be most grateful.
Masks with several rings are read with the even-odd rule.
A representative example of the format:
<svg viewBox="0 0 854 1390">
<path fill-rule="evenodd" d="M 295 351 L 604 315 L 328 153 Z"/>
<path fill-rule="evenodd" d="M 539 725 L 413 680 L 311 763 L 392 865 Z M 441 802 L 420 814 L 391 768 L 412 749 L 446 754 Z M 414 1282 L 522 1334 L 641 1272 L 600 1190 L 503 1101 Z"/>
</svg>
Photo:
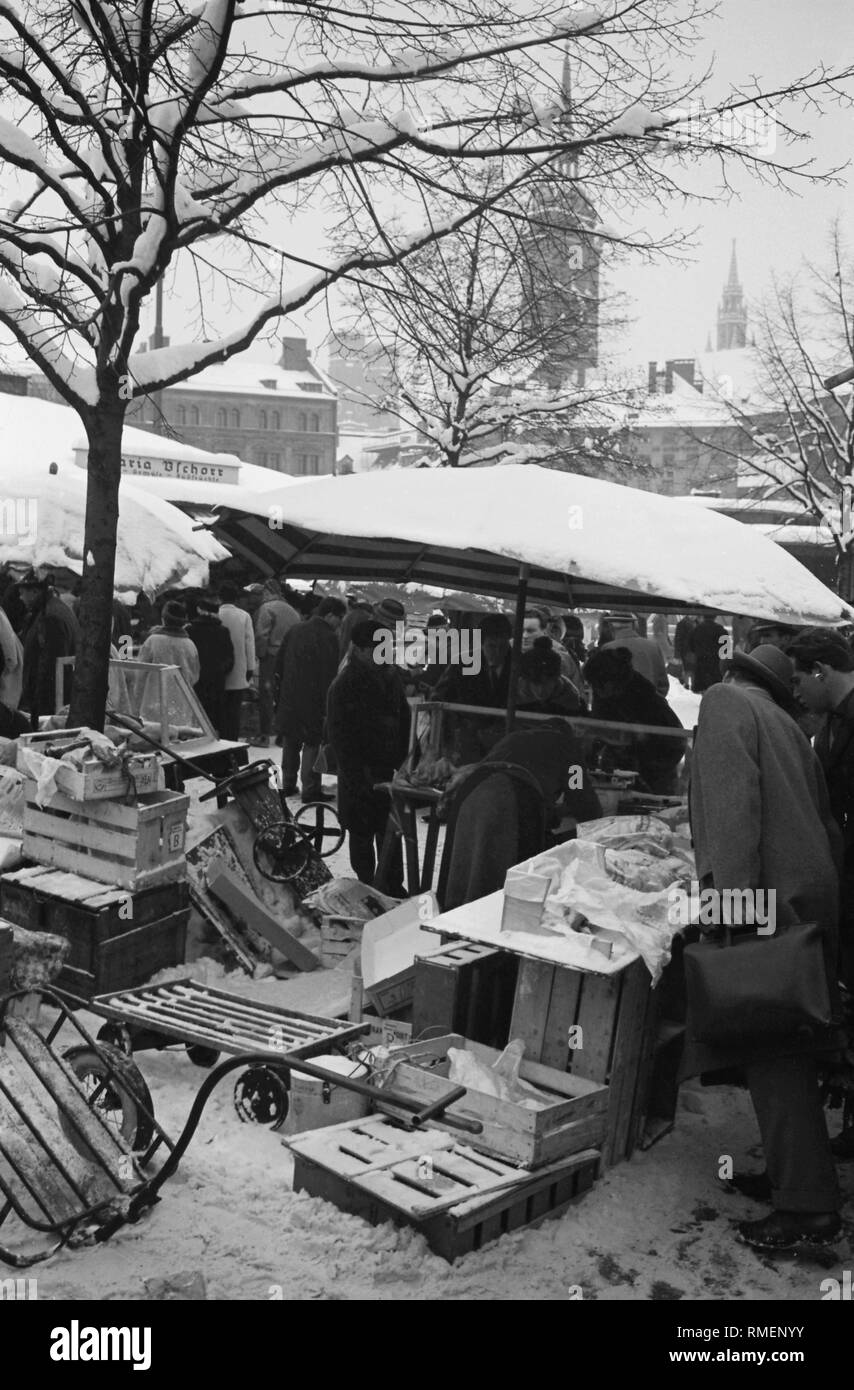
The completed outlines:
<svg viewBox="0 0 854 1390">
<path fill-rule="evenodd" d="M 204 1073 L 184 1055 L 140 1058 L 160 1122 L 177 1136 Z M 690 1106 L 690 1108 L 688 1108 Z M 209 1298 L 744 1301 L 821 1298 L 854 1254 L 854 1166 L 841 1169 L 846 1240 L 821 1262 L 759 1258 L 732 1219 L 762 1215 L 716 1182 L 720 1154 L 755 1166 L 757 1129 L 740 1091 L 684 1093 L 675 1131 L 606 1173 L 563 1216 L 516 1232 L 453 1266 L 412 1229 L 369 1226 L 291 1190 L 281 1137 L 241 1125 L 227 1079 L 161 1201 L 108 1244 L 39 1265 L 39 1298 L 146 1297 L 145 1280 L 198 1270 Z M 574 1294 L 577 1297 L 577 1294 Z"/>
</svg>

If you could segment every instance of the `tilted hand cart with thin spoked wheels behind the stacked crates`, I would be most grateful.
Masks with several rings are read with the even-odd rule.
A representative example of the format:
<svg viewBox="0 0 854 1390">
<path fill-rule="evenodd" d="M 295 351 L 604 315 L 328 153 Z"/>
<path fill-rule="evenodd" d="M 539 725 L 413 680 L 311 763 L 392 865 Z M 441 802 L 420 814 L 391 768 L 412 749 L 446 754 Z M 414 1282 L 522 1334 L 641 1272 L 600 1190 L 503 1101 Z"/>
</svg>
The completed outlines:
<svg viewBox="0 0 854 1390">
<path fill-rule="evenodd" d="M 220 803 L 224 796 L 234 796 L 257 831 L 252 858 L 256 869 L 266 878 L 271 878 L 274 883 L 288 883 L 305 872 L 312 851 L 321 859 L 328 859 L 330 855 L 341 849 L 344 830 L 335 809 L 325 801 L 312 801 L 293 813 L 281 791 L 273 785 L 278 769 L 271 759 L 259 759 L 259 762 L 250 763 L 249 767 L 241 767 L 228 777 L 214 778 L 192 759 L 175 752 L 174 748 L 164 748 L 150 734 L 138 728 L 134 720 L 115 710 L 108 710 L 107 716 L 113 723 L 150 744 L 152 748 L 167 753 L 181 767 L 189 769 L 193 777 L 203 777 L 204 781 L 213 783 L 211 790 L 204 792 L 199 801 L 210 801 L 211 796 L 216 796 Z"/>
</svg>

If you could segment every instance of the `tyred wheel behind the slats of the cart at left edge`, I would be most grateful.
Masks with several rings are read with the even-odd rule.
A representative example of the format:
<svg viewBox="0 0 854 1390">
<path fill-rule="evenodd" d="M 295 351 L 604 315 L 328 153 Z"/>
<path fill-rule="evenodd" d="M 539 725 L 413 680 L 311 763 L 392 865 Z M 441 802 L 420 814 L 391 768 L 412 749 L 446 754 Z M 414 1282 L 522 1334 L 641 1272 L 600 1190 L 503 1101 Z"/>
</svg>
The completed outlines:
<svg viewBox="0 0 854 1390">
<path fill-rule="evenodd" d="M 90 1047 L 68 1048 L 63 1059 L 82 1083 L 89 1108 L 96 1111 L 114 1133 L 121 1134 L 132 1150 L 147 1148 L 154 1137 L 150 1119 L 154 1102 L 136 1063 L 108 1042 L 102 1042 L 97 1051 Z M 79 1154 L 89 1154 L 85 1138 L 76 1133 L 61 1109 L 60 1125 L 74 1148 Z"/>
</svg>

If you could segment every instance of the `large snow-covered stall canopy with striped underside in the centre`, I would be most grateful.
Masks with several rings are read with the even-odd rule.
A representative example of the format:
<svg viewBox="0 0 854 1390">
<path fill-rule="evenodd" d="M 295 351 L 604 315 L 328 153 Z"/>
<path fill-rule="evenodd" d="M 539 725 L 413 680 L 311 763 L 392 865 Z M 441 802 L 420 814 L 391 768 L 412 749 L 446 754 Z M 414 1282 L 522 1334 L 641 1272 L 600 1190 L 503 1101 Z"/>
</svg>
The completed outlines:
<svg viewBox="0 0 854 1390">
<path fill-rule="evenodd" d="M 534 464 L 321 478 L 221 506 L 264 570 L 452 585 L 566 607 L 708 607 L 784 623 L 854 616 L 798 560 L 716 512 Z"/>
</svg>

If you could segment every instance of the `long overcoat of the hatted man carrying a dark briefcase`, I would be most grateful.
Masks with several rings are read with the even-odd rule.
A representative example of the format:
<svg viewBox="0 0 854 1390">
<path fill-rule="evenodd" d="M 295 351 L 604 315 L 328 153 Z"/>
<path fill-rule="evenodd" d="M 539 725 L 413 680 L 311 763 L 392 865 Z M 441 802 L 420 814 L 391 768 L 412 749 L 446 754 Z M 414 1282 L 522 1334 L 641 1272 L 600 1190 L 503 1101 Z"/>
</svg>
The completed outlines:
<svg viewBox="0 0 854 1390">
<path fill-rule="evenodd" d="M 837 1009 L 837 841 L 828 790 L 809 742 L 766 691 L 741 684 L 707 691 L 688 801 L 700 884 L 718 891 L 773 890 L 778 931 L 798 922 L 821 923 Z M 683 1076 L 744 1066 L 761 1055 L 761 1049 L 723 1052 L 693 1042 L 690 1012 L 687 1033 Z M 816 1052 L 835 1041 L 835 1034 L 798 1036 L 769 1052 Z"/>
</svg>

